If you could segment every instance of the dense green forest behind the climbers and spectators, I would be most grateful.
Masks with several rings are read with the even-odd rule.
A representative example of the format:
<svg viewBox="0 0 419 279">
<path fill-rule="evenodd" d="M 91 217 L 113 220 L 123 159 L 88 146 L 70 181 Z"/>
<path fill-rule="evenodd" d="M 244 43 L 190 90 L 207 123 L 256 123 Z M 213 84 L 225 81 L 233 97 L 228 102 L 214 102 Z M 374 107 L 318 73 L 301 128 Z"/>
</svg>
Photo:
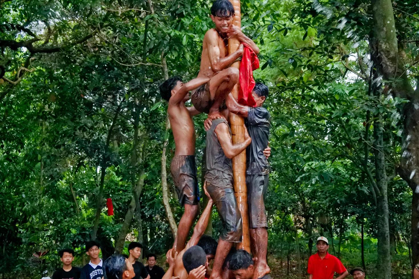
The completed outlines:
<svg viewBox="0 0 419 279">
<path fill-rule="evenodd" d="M 254 75 L 270 90 L 273 277 L 307 276 L 313 241 L 325 235 L 348 269 L 410 278 L 419 260 L 419 3 L 241 4 L 243 32 L 261 49 Z M 0 0 L 1 278 L 51 275 L 65 247 L 81 265 L 90 239 L 103 257 L 125 240 L 144 243 L 144 254 L 171 247 L 182 209 L 158 85 L 196 77 L 210 5 Z M 205 118 L 194 119 L 199 162 Z M 207 233 L 220 226 L 214 210 Z"/>
</svg>

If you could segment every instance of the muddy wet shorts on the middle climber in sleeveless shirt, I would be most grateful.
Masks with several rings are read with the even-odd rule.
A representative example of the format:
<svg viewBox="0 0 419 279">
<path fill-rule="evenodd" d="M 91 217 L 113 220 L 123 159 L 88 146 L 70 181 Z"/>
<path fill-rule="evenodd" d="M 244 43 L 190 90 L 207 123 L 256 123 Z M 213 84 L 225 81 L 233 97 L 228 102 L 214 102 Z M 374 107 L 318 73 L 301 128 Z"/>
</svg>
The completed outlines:
<svg viewBox="0 0 419 279">
<path fill-rule="evenodd" d="M 217 206 L 223 230 L 221 239 L 228 242 L 241 242 L 242 222 L 237 206 L 233 185 L 231 188 L 221 188 L 207 182 L 209 196 Z"/>
</svg>

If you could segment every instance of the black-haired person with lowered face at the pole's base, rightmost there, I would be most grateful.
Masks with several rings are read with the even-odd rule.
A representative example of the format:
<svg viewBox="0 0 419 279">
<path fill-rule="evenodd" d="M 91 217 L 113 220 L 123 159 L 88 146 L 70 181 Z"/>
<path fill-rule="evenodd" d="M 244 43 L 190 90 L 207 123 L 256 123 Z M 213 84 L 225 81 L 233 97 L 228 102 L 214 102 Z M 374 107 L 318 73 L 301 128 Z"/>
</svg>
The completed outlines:
<svg viewBox="0 0 419 279">
<path fill-rule="evenodd" d="M 251 279 L 253 276 L 253 259 L 245 250 L 237 250 L 230 256 L 228 269 L 233 272 L 235 279 Z M 272 279 L 266 274 L 261 279 Z"/>
</svg>

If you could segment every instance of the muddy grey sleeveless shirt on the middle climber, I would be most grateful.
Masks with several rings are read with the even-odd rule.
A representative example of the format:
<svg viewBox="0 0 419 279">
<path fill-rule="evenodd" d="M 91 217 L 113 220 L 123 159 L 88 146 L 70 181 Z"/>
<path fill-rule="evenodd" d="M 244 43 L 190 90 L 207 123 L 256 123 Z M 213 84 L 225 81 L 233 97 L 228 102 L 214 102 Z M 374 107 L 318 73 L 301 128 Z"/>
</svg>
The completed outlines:
<svg viewBox="0 0 419 279">
<path fill-rule="evenodd" d="M 205 159 L 207 172 L 205 173 L 205 179 L 217 187 L 231 187 L 233 183 L 232 162 L 225 156 L 215 133 L 215 128 L 220 123 L 225 123 L 228 126 L 227 120 L 217 118 L 212 120 L 211 128 L 207 131 L 207 154 Z M 228 130 L 231 136 L 230 126 L 228 126 Z"/>
</svg>

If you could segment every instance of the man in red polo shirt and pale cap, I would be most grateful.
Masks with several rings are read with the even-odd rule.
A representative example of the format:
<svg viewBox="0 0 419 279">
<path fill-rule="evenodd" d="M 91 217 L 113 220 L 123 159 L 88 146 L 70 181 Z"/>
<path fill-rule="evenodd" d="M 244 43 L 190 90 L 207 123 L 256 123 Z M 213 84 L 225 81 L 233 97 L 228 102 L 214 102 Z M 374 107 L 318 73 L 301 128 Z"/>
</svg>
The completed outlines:
<svg viewBox="0 0 419 279">
<path fill-rule="evenodd" d="M 343 279 L 348 276 L 348 271 L 341 261 L 327 252 L 329 242 L 321 236 L 317 238 L 317 253 L 308 259 L 307 273 L 309 279 L 333 279 L 335 272 L 339 274 L 336 279 Z"/>
</svg>

